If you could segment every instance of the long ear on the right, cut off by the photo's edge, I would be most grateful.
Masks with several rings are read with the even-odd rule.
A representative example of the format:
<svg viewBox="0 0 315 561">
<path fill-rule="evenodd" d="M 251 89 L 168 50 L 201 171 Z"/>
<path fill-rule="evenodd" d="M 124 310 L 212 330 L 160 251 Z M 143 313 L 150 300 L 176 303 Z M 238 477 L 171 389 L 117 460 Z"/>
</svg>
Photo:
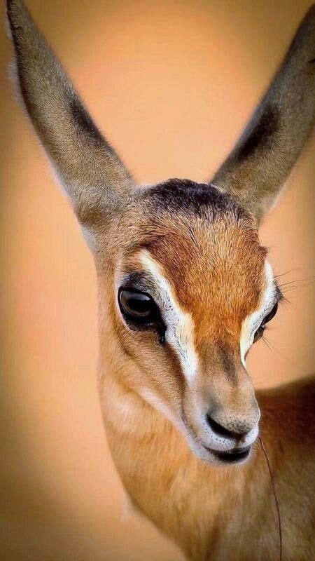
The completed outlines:
<svg viewBox="0 0 315 561">
<path fill-rule="evenodd" d="M 315 4 L 271 86 L 211 183 L 230 191 L 258 221 L 272 205 L 315 120 Z"/>
</svg>

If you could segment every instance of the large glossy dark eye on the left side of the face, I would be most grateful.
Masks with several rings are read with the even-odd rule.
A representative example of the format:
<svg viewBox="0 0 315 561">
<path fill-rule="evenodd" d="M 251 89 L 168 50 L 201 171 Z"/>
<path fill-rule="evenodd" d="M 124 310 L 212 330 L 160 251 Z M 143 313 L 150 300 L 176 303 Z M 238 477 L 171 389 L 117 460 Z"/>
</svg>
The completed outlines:
<svg viewBox="0 0 315 561">
<path fill-rule="evenodd" d="M 152 325 L 160 319 L 158 306 L 145 292 L 120 288 L 118 302 L 125 318 L 134 323 Z"/>
</svg>

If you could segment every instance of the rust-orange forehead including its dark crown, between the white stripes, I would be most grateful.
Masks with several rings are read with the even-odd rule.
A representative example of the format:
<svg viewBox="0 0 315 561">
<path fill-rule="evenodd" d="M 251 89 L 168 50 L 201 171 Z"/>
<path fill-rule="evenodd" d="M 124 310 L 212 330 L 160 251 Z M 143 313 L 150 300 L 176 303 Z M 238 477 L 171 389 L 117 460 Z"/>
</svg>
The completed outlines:
<svg viewBox="0 0 315 561">
<path fill-rule="evenodd" d="M 173 179 L 146 189 L 137 216 L 125 273 L 132 273 L 132 266 L 139 269 L 137 252 L 148 250 L 180 306 L 192 314 L 200 342 L 210 331 L 211 337 L 239 334 L 264 285 L 266 253 L 251 215 L 214 185 Z M 229 356 L 223 355 L 228 365 Z"/>
</svg>

